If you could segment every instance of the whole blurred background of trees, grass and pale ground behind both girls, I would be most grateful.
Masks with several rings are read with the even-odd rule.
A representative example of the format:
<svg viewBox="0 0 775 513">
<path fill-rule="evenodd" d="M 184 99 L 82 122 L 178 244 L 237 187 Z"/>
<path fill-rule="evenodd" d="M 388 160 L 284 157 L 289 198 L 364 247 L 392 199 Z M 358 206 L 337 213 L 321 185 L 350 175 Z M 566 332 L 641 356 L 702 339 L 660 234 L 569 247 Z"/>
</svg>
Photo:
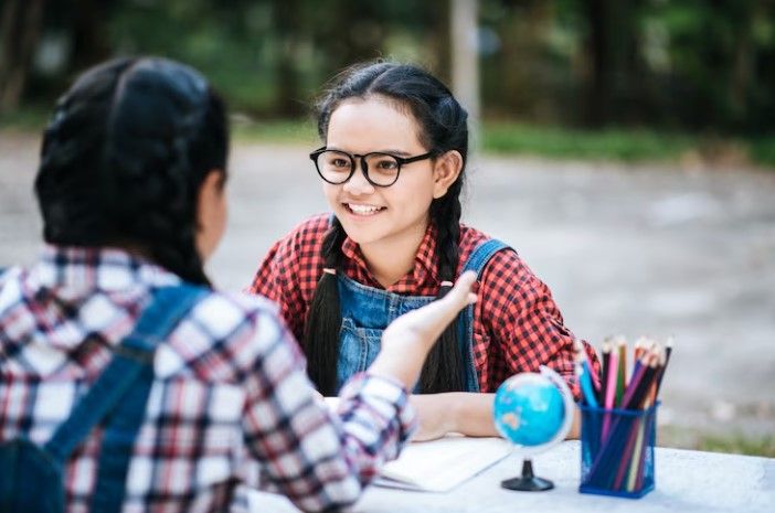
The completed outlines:
<svg viewBox="0 0 775 513">
<path fill-rule="evenodd" d="M 0 0 L 0 266 L 32 261 L 39 135 L 89 65 L 156 54 L 202 71 L 236 143 L 209 264 L 246 286 L 326 210 L 307 153 L 325 84 L 421 64 L 471 114 L 464 220 L 512 245 L 599 349 L 676 350 L 660 445 L 775 456 L 772 0 Z"/>
</svg>

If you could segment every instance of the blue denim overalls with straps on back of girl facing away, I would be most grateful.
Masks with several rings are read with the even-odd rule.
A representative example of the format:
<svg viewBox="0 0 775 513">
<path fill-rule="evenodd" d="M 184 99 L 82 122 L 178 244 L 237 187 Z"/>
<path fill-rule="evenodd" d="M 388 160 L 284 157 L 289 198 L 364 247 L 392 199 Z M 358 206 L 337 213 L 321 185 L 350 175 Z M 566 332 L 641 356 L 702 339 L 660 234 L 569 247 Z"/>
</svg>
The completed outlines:
<svg viewBox="0 0 775 513">
<path fill-rule="evenodd" d="M 103 420 L 89 512 L 121 510 L 129 460 L 153 384 L 156 346 L 206 293 L 189 285 L 160 288 L 135 330 L 115 348 L 106 370 L 44 446 L 23 436 L 0 445 L 1 512 L 64 512 L 67 459 Z"/>
</svg>

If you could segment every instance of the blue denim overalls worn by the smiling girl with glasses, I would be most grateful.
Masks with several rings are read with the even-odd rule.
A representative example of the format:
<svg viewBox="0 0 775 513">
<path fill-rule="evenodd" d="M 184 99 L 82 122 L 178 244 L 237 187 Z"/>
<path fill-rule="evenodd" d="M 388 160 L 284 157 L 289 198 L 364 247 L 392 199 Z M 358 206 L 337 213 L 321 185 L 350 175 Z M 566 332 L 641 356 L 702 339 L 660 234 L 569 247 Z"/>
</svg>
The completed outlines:
<svg viewBox="0 0 775 513">
<path fill-rule="evenodd" d="M 489 239 L 479 244 L 466 260 L 465 270 L 474 270 L 477 277 L 489 259 L 506 244 Z M 337 274 L 339 286 L 339 304 L 342 314 L 342 328 L 339 332 L 339 360 L 337 362 L 337 391 L 353 374 L 365 371 L 380 352 L 382 332 L 395 318 L 423 307 L 435 296 L 401 296 L 386 290 L 361 285 L 358 281 Z M 467 392 L 479 392 L 474 362 L 474 306 L 466 307 L 457 316 L 458 341 Z"/>
</svg>

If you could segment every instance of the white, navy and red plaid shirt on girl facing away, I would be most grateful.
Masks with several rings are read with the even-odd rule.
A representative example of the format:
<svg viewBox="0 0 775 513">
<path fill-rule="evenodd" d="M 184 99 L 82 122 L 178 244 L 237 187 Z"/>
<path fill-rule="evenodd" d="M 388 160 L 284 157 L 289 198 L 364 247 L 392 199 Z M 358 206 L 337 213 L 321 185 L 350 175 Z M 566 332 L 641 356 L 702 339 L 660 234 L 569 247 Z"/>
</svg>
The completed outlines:
<svg viewBox="0 0 775 513">
<path fill-rule="evenodd" d="M 0 442 L 51 438 L 134 328 L 157 287 L 180 279 L 117 249 L 49 247 L 0 275 Z M 236 483 L 302 510 L 352 503 L 414 423 L 405 391 L 359 374 L 339 415 L 315 394 L 276 307 L 213 291 L 161 343 L 127 474 L 124 512 L 247 511 Z M 99 428 L 65 469 L 66 510 L 86 512 Z M 237 492 L 244 491 L 240 487 Z"/>
</svg>

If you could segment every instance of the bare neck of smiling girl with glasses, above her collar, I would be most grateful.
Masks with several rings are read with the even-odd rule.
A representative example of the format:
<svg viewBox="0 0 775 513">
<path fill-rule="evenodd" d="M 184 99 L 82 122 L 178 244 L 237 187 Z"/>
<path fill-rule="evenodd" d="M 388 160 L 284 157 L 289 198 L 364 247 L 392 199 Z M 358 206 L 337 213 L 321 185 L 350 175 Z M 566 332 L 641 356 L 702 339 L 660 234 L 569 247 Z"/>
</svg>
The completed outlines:
<svg viewBox="0 0 775 513">
<path fill-rule="evenodd" d="M 382 287 L 389 288 L 412 270 L 427 226 L 425 220 L 400 236 L 360 245 L 369 270 Z"/>
</svg>

